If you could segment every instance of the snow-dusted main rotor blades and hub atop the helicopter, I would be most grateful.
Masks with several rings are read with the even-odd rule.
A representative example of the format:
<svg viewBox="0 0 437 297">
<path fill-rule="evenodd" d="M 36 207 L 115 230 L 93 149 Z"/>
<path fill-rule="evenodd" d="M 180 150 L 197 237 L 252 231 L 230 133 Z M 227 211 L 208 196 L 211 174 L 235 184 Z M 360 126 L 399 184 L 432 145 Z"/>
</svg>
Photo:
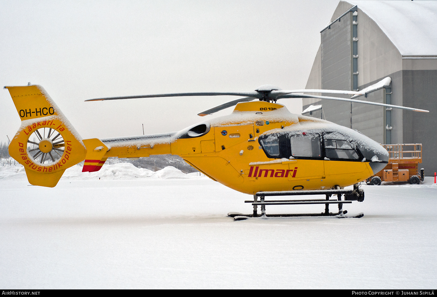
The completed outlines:
<svg viewBox="0 0 437 297">
<path fill-rule="evenodd" d="M 232 100 L 229 102 L 225 102 L 221 105 L 215 106 L 211 109 L 202 111 L 198 113 L 198 116 L 206 116 L 208 114 L 216 113 L 222 109 L 235 106 L 239 102 L 249 102 L 255 99 L 259 99 L 261 101 L 267 102 L 276 102 L 278 99 L 285 98 L 318 98 L 318 99 L 330 99 L 330 100 L 340 100 L 340 101 L 349 101 L 370 105 L 378 105 L 385 107 L 392 107 L 398 109 L 406 109 L 411 111 L 419 111 L 424 113 L 429 113 L 428 110 L 417 109 L 411 107 L 383 104 L 377 102 L 370 102 L 364 100 L 353 99 L 357 96 L 366 95 L 367 93 L 376 91 L 378 89 L 382 89 L 384 86 L 390 85 L 392 79 L 386 77 L 381 81 L 375 83 L 374 85 L 370 85 L 361 91 L 343 91 L 343 90 L 325 90 L 325 89 L 299 89 L 299 90 L 282 90 L 281 88 L 274 85 L 261 85 L 255 91 L 250 92 L 197 92 L 197 93 L 169 93 L 169 94 L 154 94 L 154 95 L 139 95 L 139 96 L 121 96 L 121 97 L 107 97 L 107 98 L 96 98 L 96 99 L 88 99 L 85 101 L 103 101 L 103 100 L 117 100 L 117 99 L 138 99 L 138 98 L 156 98 L 156 97 L 179 97 L 179 96 L 246 96 L 244 98 L 239 98 L 236 100 Z M 350 99 L 348 98 L 340 98 L 340 97 L 331 97 L 331 96 L 318 96 L 318 95 L 307 95 L 307 94 L 299 94 L 299 93 L 328 93 L 328 94 L 345 94 L 345 95 L 353 95 Z"/>
</svg>

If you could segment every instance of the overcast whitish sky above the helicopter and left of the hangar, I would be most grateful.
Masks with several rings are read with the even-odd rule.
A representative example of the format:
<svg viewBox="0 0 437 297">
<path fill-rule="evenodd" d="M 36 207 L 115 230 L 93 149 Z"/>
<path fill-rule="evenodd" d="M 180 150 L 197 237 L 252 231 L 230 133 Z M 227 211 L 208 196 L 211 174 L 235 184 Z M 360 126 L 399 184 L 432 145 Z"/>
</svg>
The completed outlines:
<svg viewBox="0 0 437 297">
<path fill-rule="evenodd" d="M 83 138 L 177 131 L 236 97 L 83 102 L 166 92 L 305 88 L 339 0 L 0 0 L 0 86 L 42 85 Z M 283 99 L 302 112 L 301 99 Z M 0 141 L 20 118 L 0 90 Z"/>
</svg>

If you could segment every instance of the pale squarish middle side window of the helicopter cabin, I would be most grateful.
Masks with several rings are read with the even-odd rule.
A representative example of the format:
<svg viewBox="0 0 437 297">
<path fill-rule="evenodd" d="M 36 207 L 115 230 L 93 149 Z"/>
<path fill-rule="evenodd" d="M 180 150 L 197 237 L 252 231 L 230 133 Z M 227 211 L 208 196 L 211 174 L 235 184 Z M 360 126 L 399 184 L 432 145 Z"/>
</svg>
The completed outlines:
<svg viewBox="0 0 437 297">
<path fill-rule="evenodd" d="M 290 137 L 291 156 L 320 157 L 319 134 L 293 135 Z"/>
</svg>

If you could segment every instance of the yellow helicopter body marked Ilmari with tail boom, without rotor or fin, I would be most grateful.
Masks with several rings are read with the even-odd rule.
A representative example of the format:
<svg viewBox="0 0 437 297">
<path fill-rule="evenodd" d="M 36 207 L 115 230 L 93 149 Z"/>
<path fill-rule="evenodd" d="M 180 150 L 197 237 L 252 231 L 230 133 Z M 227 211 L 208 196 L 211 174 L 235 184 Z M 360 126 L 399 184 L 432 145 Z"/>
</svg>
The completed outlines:
<svg viewBox="0 0 437 297">
<path fill-rule="evenodd" d="M 104 157 L 178 155 L 247 194 L 345 187 L 388 162 L 387 151 L 357 131 L 264 101 L 239 103 L 229 116 L 177 133 L 101 141 L 108 147 Z"/>
</svg>

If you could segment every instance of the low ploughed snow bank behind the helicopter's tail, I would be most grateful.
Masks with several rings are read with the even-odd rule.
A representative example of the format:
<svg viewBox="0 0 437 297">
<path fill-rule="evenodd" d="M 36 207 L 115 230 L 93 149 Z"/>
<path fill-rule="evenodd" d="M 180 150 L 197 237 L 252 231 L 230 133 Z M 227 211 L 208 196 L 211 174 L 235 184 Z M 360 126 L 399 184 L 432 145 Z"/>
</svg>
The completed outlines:
<svg viewBox="0 0 437 297">
<path fill-rule="evenodd" d="M 68 168 L 62 175 L 62 179 L 74 180 L 129 180 L 138 178 L 155 179 L 186 179 L 186 178 L 206 178 L 203 174 L 184 174 L 173 166 L 167 166 L 159 171 L 151 171 L 146 168 L 137 168 L 131 163 L 118 163 L 104 165 L 100 171 L 82 172 L 81 166 Z M 0 167 L 0 180 L 27 180 L 26 172 L 22 166 L 5 165 Z"/>
</svg>

